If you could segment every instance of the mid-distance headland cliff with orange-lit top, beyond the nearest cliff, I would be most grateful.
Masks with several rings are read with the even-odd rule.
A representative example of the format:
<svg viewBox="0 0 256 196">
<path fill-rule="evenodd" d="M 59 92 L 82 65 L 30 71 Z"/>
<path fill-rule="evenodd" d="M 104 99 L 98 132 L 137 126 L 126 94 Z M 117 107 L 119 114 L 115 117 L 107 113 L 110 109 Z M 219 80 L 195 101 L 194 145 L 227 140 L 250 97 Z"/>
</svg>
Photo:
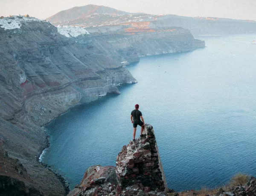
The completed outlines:
<svg viewBox="0 0 256 196">
<path fill-rule="evenodd" d="M 101 32 L 99 28 L 97 32 L 74 39 L 93 52 L 111 56 L 123 65 L 137 62 L 140 57 L 189 52 L 205 47 L 204 41 L 194 39 L 189 30 L 180 27 L 171 29 L 127 27 L 120 31 L 97 33 Z"/>
</svg>

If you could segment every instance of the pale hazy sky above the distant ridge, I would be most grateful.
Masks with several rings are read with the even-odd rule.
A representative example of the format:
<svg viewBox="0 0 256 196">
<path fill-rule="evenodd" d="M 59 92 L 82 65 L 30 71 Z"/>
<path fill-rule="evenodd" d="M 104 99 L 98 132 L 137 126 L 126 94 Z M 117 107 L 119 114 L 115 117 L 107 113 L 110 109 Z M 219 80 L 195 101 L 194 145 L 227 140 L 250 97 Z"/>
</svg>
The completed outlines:
<svg viewBox="0 0 256 196">
<path fill-rule="evenodd" d="M 29 14 L 46 19 L 62 10 L 87 4 L 126 12 L 256 20 L 256 0 L 0 0 L 0 16 Z"/>
</svg>

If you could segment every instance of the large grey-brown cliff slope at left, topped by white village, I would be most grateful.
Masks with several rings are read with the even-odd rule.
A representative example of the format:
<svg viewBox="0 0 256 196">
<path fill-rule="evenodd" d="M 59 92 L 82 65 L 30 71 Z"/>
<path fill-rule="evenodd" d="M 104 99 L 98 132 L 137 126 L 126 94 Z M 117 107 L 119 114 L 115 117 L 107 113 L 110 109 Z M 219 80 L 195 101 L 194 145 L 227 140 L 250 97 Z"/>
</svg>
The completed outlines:
<svg viewBox="0 0 256 196">
<path fill-rule="evenodd" d="M 55 175 L 36 161 L 47 144 L 40 127 L 70 107 L 119 93 L 116 85 L 137 81 L 111 57 L 32 19 L 0 19 L 0 149 L 22 161 L 31 179 L 21 178 L 26 189 L 64 195 Z M 0 159 L 1 165 L 4 162 Z M 10 170 L 13 173 L 0 170 L 0 176 L 20 175 Z"/>
</svg>

